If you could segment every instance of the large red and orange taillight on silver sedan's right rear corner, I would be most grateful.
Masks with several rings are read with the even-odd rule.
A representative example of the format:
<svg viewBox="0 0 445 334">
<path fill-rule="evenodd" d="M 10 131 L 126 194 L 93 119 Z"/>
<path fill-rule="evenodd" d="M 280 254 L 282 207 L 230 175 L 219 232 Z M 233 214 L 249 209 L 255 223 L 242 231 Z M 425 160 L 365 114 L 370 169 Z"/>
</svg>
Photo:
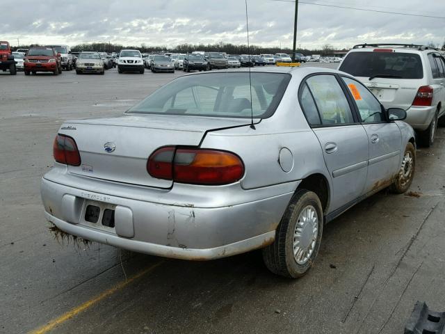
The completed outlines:
<svg viewBox="0 0 445 334">
<path fill-rule="evenodd" d="M 234 153 L 194 148 L 160 148 L 148 159 L 152 177 L 187 184 L 221 185 L 241 180 L 243 161 Z"/>
</svg>

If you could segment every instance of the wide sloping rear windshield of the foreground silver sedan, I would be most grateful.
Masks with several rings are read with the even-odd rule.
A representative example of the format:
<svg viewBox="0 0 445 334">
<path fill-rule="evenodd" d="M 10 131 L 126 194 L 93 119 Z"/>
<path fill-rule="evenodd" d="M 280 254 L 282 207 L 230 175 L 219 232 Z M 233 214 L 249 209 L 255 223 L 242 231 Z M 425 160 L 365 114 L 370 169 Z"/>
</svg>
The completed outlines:
<svg viewBox="0 0 445 334">
<path fill-rule="evenodd" d="M 280 103 L 290 74 L 220 72 L 179 77 L 127 113 L 268 118 Z"/>
</svg>

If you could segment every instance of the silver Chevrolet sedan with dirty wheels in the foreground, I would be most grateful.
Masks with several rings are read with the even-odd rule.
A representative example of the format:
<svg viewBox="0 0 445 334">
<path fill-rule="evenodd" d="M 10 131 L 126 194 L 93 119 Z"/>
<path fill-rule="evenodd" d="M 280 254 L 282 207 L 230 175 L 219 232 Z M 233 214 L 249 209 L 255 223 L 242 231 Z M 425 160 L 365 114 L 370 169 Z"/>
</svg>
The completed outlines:
<svg viewBox="0 0 445 334">
<path fill-rule="evenodd" d="M 325 223 L 381 189 L 409 188 L 405 116 L 336 70 L 185 75 L 123 116 L 63 123 L 42 178 L 45 216 L 68 234 L 163 257 L 263 248 L 270 271 L 296 278 Z"/>
</svg>

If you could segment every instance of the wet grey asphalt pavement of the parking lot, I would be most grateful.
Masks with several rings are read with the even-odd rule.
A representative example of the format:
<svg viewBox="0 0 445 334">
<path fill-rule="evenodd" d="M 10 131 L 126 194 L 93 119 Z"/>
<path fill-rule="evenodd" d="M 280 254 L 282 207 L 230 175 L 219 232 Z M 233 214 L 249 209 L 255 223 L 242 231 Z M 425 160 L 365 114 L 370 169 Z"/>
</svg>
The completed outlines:
<svg viewBox="0 0 445 334">
<path fill-rule="evenodd" d="M 445 311 L 443 127 L 410 196 L 381 191 L 328 224 L 298 280 L 259 251 L 188 262 L 54 239 L 39 185 L 61 122 L 118 116 L 181 74 L 0 72 L 0 333 L 394 334 L 417 300 Z"/>
</svg>

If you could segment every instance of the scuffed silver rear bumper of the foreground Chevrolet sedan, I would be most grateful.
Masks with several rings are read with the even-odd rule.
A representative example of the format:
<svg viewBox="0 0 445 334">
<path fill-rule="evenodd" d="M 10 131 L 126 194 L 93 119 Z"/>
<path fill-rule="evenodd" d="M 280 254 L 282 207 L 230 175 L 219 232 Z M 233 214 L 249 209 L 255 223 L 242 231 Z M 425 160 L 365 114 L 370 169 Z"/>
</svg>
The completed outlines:
<svg viewBox="0 0 445 334">
<path fill-rule="evenodd" d="M 154 194 L 152 198 L 158 202 L 149 201 L 150 196 L 147 200 L 130 199 L 123 197 L 124 193 L 120 197 L 86 188 L 87 184 L 74 188 L 43 178 L 40 190 L 46 218 L 61 230 L 91 241 L 186 260 L 213 260 L 271 244 L 293 195 L 292 191 L 236 205 L 197 207 L 164 204 L 159 202 L 162 196 Z M 160 190 L 145 191 L 150 192 Z M 268 193 L 272 191 L 269 189 Z M 227 197 L 234 196 L 229 193 Z M 115 228 L 84 220 L 86 205 L 91 200 L 115 208 Z"/>
</svg>

